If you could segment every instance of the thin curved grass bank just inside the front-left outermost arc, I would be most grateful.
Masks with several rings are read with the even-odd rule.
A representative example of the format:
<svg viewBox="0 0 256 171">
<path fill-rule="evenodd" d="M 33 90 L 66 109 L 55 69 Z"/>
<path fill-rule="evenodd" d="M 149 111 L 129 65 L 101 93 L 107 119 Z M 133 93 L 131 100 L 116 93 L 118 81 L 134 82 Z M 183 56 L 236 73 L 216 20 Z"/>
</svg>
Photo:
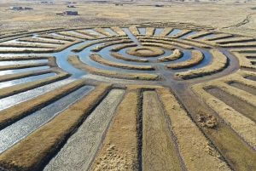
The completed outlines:
<svg viewBox="0 0 256 171">
<path fill-rule="evenodd" d="M 113 66 L 113 67 L 124 68 L 124 69 L 128 69 L 128 70 L 143 70 L 143 71 L 154 70 L 153 66 L 128 65 L 128 64 L 122 64 L 122 63 L 117 63 L 117 62 L 113 62 L 110 60 L 106 60 L 106 59 L 102 58 L 102 56 L 100 54 L 90 54 L 90 59 L 94 60 L 100 64 L 106 65 L 106 66 Z"/>
</svg>

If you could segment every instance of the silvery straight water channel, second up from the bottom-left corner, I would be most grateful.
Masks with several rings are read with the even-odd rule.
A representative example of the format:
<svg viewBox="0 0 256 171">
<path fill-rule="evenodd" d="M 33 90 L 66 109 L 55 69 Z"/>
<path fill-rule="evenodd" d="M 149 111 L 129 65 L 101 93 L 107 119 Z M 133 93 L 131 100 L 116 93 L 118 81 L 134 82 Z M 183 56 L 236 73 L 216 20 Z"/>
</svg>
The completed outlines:
<svg viewBox="0 0 256 171">
<path fill-rule="evenodd" d="M 30 100 L 34 97 L 37 97 L 38 95 L 45 94 L 56 88 L 60 88 L 61 86 L 66 85 L 67 83 L 72 83 L 73 81 L 74 79 L 69 78 L 59 82 L 49 83 L 39 88 L 33 88 L 31 90 L 28 90 L 20 94 L 15 94 L 15 95 L 3 98 L 1 99 L 1 103 L 0 103 L 0 111 L 12 105 L 19 104 L 22 101 Z"/>
</svg>

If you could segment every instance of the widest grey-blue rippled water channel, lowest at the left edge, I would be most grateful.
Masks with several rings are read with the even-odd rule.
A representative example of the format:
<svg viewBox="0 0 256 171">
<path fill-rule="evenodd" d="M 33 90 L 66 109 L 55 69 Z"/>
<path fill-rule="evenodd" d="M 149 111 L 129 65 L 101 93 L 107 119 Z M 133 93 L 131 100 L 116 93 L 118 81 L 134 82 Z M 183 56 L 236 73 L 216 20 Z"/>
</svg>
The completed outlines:
<svg viewBox="0 0 256 171">
<path fill-rule="evenodd" d="M 26 135 L 31 134 L 32 131 L 41 127 L 44 123 L 49 122 L 49 120 L 57 116 L 61 111 L 67 109 L 69 105 L 78 101 L 92 89 L 93 87 L 91 86 L 79 88 L 73 93 L 61 98 L 61 100 L 57 100 L 40 111 L 36 111 L 30 116 L 20 119 L 20 121 L 1 130 L 0 153 L 24 139 Z"/>
</svg>

